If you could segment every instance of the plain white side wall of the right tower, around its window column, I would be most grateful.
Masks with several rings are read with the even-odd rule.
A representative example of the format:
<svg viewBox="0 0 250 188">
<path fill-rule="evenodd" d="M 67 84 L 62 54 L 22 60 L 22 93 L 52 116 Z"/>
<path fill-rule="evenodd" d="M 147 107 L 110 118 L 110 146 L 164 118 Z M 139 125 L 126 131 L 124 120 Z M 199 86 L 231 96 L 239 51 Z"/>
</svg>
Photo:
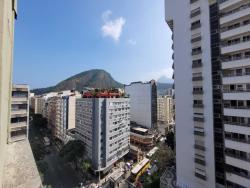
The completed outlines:
<svg viewBox="0 0 250 188">
<path fill-rule="evenodd" d="M 177 184 L 180 187 L 212 188 L 215 187 L 214 137 L 213 137 L 213 103 L 210 54 L 210 24 L 208 1 L 200 0 L 194 4 L 190 1 L 166 0 L 166 20 L 173 20 L 174 27 L 174 65 L 175 65 L 175 112 L 176 112 L 176 161 Z M 191 10 L 200 7 L 201 29 L 191 31 Z M 192 83 L 192 44 L 191 35 L 201 32 L 202 41 L 202 84 L 204 94 L 203 127 L 206 136 L 205 142 L 206 177 L 203 181 L 195 177 L 194 162 L 194 122 L 193 122 L 193 85 Z M 198 57 L 198 56 L 197 56 Z M 198 84 L 198 85 L 199 85 Z M 198 151 L 197 151 L 198 152 Z"/>
</svg>

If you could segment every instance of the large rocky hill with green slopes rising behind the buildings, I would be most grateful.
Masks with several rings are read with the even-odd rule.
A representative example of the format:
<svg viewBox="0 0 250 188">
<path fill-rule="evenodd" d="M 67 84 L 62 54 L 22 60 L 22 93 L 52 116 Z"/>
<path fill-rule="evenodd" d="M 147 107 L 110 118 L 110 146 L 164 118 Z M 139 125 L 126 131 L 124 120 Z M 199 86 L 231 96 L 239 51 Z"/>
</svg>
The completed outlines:
<svg viewBox="0 0 250 188">
<path fill-rule="evenodd" d="M 122 88 L 123 84 L 115 81 L 105 70 L 93 69 L 74 75 L 55 86 L 47 88 L 34 89 L 31 92 L 41 95 L 48 92 L 57 92 L 63 90 L 82 91 L 84 87 L 90 88 Z"/>
</svg>

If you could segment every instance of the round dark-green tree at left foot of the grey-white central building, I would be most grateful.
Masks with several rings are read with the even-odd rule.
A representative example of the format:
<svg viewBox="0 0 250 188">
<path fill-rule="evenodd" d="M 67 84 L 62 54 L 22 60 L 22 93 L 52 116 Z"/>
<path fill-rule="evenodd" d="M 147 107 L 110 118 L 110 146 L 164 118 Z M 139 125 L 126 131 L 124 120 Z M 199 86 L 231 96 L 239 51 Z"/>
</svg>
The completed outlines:
<svg viewBox="0 0 250 188">
<path fill-rule="evenodd" d="M 85 147 L 80 140 L 69 141 L 60 151 L 60 156 L 67 162 L 74 163 L 78 169 L 78 161 L 83 157 Z"/>
</svg>

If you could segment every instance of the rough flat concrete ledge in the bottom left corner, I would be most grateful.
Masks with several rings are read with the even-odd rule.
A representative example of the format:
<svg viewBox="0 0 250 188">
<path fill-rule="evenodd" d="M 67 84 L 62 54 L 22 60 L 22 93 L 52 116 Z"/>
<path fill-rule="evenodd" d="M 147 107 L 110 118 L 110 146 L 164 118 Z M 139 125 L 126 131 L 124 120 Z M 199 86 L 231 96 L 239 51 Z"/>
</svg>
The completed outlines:
<svg viewBox="0 0 250 188">
<path fill-rule="evenodd" d="M 7 145 L 4 163 L 4 188 L 42 188 L 35 159 L 28 140 Z"/>
</svg>

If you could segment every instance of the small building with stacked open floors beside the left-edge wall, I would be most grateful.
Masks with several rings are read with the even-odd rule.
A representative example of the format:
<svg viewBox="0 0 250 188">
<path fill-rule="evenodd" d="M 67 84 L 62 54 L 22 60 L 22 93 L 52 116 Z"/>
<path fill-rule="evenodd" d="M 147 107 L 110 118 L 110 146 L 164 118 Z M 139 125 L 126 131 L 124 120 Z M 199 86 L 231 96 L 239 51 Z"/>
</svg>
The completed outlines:
<svg viewBox="0 0 250 188">
<path fill-rule="evenodd" d="M 28 138 L 29 133 L 29 86 L 13 85 L 9 142 Z"/>
</svg>

